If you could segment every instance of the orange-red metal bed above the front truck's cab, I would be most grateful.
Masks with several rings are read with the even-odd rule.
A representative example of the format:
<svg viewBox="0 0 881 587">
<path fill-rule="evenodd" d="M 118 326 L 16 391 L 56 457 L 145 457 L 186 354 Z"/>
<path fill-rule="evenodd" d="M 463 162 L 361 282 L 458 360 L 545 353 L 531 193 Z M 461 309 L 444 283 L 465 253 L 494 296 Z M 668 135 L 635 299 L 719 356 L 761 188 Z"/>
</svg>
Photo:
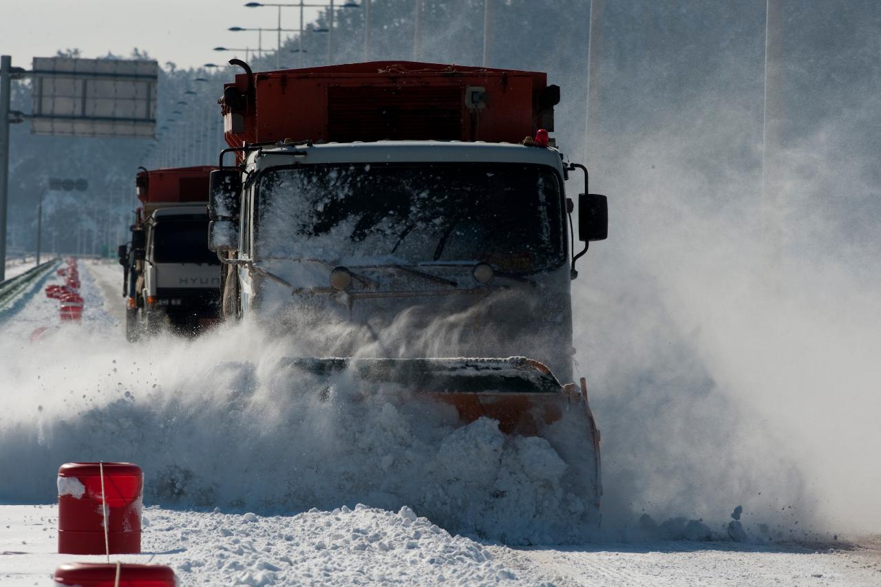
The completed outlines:
<svg viewBox="0 0 881 587">
<path fill-rule="evenodd" d="M 285 139 L 519 143 L 553 130 L 558 102 L 559 86 L 547 85 L 545 73 L 396 61 L 246 69 L 220 100 L 233 147 Z"/>
</svg>

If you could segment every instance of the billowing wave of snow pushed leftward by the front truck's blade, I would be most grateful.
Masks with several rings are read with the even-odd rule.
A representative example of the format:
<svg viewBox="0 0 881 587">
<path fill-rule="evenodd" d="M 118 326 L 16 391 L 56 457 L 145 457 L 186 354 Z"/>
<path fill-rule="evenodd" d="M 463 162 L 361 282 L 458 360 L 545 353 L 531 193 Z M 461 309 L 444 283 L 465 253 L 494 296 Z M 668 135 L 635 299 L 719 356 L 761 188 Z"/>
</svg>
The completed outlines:
<svg viewBox="0 0 881 587">
<path fill-rule="evenodd" d="M 247 325 L 130 345 L 108 328 L 89 264 L 81 273 L 82 326 L 31 344 L 34 322 L 0 341 L 16 390 L 0 413 L 0 470 L 15 472 L 0 479 L 0 500 L 53 501 L 65 462 L 130 461 L 144 468 L 147 503 L 263 514 L 407 506 L 508 544 L 596 530 L 565 482 L 574 472 L 541 438 L 508 437 L 495 420 L 458 427 L 452 406 L 346 374 L 328 384 L 288 365 L 306 354 L 295 340 Z"/>
</svg>

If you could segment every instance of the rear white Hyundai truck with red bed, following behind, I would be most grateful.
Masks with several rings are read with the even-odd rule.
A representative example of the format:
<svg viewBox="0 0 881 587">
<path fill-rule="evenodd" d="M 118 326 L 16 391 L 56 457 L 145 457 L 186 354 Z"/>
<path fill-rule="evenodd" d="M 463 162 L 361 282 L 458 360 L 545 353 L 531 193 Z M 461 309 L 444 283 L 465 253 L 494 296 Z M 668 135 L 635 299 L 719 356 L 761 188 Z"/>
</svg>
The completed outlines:
<svg viewBox="0 0 881 587">
<path fill-rule="evenodd" d="M 217 167 L 141 168 L 124 271 L 126 338 L 170 330 L 193 335 L 219 320 L 220 264 L 207 247 L 208 181 Z"/>
</svg>

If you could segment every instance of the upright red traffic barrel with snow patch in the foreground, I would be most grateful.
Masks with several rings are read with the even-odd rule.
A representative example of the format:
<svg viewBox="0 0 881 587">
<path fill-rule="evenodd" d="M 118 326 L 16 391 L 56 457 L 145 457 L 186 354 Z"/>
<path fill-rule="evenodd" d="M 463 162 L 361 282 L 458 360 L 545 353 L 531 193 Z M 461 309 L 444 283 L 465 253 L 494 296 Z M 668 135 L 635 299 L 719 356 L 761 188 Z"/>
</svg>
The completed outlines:
<svg viewBox="0 0 881 587">
<path fill-rule="evenodd" d="M 141 552 L 144 473 L 131 463 L 105 463 L 109 554 Z M 104 516 L 98 463 L 58 468 L 58 552 L 104 554 Z"/>
</svg>

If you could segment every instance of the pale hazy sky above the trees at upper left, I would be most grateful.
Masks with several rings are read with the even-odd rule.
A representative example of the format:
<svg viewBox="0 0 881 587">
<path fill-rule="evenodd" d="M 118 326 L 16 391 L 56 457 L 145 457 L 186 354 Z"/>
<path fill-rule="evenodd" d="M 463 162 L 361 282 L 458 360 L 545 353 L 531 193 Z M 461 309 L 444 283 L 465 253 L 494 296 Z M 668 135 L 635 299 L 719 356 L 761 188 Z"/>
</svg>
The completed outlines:
<svg viewBox="0 0 881 587">
<path fill-rule="evenodd" d="M 85 57 L 100 57 L 108 51 L 128 56 L 137 47 L 159 63 L 173 61 L 183 67 L 218 63 L 233 54 L 213 51 L 214 47 L 257 46 L 256 32 L 231 33 L 226 30 L 230 26 L 277 26 L 278 9 L 245 8 L 247 1 L 0 0 L 0 53 L 11 55 L 13 65 L 28 69 L 34 56 L 54 56 L 59 48 L 79 48 Z M 329 4 L 329 0 L 307 2 Z M 306 22 L 317 10 L 307 9 Z M 298 28 L 299 19 L 299 9 L 282 9 L 283 28 Z M 276 39 L 275 31 L 264 32 L 263 48 L 275 48 Z"/>
</svg>

